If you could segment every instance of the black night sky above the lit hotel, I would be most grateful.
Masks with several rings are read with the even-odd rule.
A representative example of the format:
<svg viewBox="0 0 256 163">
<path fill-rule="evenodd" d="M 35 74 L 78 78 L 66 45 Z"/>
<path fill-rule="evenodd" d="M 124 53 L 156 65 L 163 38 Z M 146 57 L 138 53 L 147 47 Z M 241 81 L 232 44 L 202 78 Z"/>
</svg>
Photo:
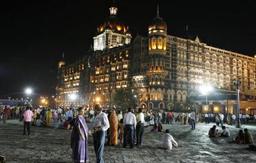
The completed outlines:
<svg viewBox="0 0 256 163">
<path fill-rule="evenodd" d="M 212 3 L 210 3 L 212 2 Z M 168 34 L 189 32 L 213 47 L 253 56 L 256 51 L 255 1 L 160 0 Z M 86 54 L 111 0 L 0 2 L 0 98 L 21 97 L 30 86 L 36 94 L 54 95 L 56 68 Z M 156 16 L 154 0 L 116 0 L 118 16 L 132 35 L 147 36 Z"/>
</svg>

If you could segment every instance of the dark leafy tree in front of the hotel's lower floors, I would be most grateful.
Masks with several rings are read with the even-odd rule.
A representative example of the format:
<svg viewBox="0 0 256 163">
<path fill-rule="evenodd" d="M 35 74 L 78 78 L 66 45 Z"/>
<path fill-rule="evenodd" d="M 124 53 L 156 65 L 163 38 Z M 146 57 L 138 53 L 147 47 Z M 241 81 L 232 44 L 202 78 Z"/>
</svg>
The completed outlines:
<svg viewBox="0 0 256 163">
<path fill-rule="evenodd" d="M 123 88 L 116 90 L 113 103 L 122 109 L 136 108 L 138 106 L 136 89 Z"/>
</svg>

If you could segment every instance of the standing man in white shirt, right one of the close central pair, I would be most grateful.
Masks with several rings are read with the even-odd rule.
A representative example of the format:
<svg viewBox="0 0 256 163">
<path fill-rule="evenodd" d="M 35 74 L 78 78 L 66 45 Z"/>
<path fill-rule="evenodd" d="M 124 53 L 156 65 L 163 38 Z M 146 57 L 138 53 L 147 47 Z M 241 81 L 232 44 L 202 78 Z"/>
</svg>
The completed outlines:
<svg viewBox="0 0 256 163">
<path fill-rule="evenodd" d="M 142 109 L 138 108 L 138 114 L 137 114 L 137 127 L 136 127 L 136 145 L 139 146 L 142 143 L 142 134 L 144 131 L 144 122 L 145 122 L 145 116 L 142 113 Z"/>
</svg>

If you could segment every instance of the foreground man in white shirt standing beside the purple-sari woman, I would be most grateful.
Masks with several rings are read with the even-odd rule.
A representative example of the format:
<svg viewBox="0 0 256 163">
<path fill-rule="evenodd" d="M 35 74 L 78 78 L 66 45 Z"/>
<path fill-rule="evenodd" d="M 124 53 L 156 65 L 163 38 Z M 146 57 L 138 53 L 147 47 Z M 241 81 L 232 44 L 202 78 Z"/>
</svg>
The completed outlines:
<svg viewBox="0 0 256 163">
<path fill-rule="evenodd" d="M 96 162 L 103 161 L 103 151 L 105 144 L 106 131 L 109 129 L 109 120 L 107 114 L 102 112 L 100 104 L 96 104 L 94 107 L 96 117 L 94 120 L 94 151 L 96 153 Z"/>
</svg>

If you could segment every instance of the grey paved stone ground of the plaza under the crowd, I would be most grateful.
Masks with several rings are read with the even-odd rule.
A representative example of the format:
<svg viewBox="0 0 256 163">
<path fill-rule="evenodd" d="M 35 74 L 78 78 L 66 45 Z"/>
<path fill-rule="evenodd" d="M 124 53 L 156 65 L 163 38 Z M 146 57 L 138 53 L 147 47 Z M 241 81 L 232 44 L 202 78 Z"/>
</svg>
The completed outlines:
<svg viewBox="0 0 256 163">
<path fill-rule="evenodd" d="M 145 128 L 143 145 L 140 149 L 123 149 L 105 146 L 105 162 L 256 162 L 256 152 L 249 151 L 248 145 L 231 143 L 231 138 L 208 137 L 213 125 L 196 125 L 192 131 L 189 125 L 163 125 L 170 129 L 179 147 L 172 151 L 161 149 L 164 133 L 153 133 Z M 30 138 L 23 137 L 23 126 L 19 121 L 0 122 L 0 154 L 7 162 L 71 162 L 71 131 L 52 127 L 32 127 Z M 238 129 L 228 126 L 231 136 L 235 137 Z M 89 124 L 92 127 L 92 124 Z M 256 126 L 246 125 L 256 138 Z M 220 127 L 218 128 L 221 130 Z M 92 136 L 89 137 L 89 162 L 95 162 Z"/>
</svg>

